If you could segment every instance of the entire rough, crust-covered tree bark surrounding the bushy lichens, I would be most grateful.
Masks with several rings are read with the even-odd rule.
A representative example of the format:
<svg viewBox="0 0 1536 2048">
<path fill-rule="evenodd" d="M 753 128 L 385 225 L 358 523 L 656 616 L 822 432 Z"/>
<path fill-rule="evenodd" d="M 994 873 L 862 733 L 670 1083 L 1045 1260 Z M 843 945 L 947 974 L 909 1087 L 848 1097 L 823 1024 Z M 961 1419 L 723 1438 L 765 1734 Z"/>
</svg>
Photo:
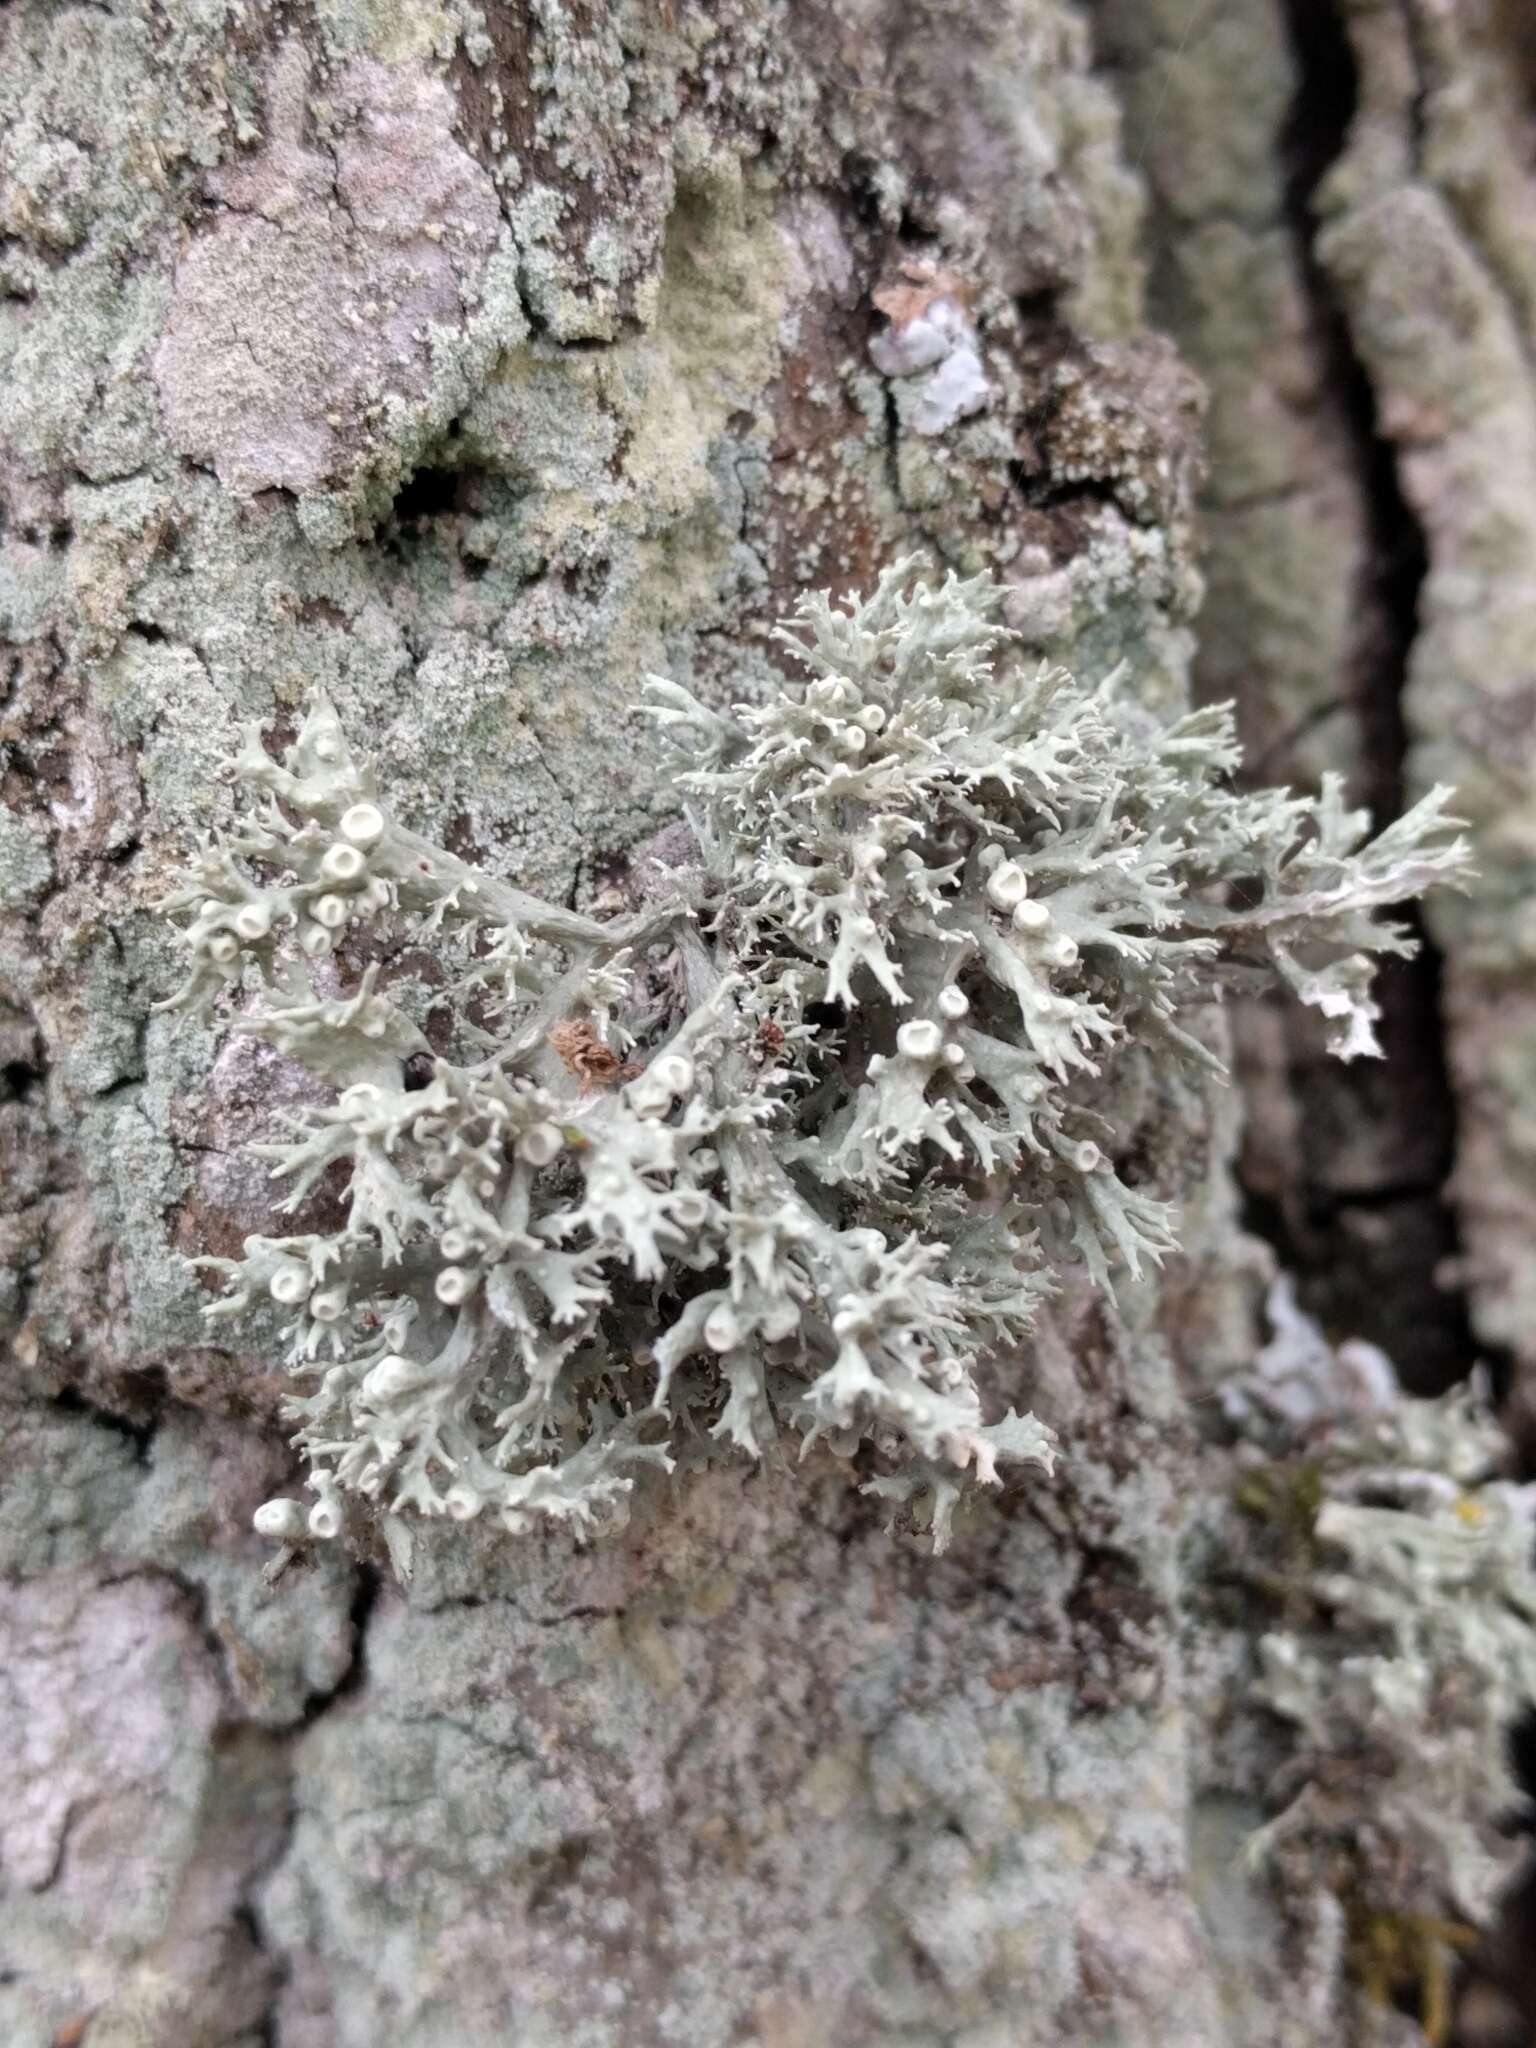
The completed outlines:
<svg viewBox="0 0 1536 2048">
<path fill-rule="evenodd" d="M 1264 1272 L 1233 1096 L 1120 1135 L 1188 1255 L 1059 1305 L 1063 1477 L 950 1556 L 825 1460 L 268 1597 L 272 1356 L 182 1255 L 268 1225 L 301 1083 L 150 1016 L 152 905 L 313 684 L 410 823 L 598 899 L 672 815 L 647 670 L 762 694 L 805 586 L 989 565 L 1040 653 L 1239 694 L 1268 778 L 1462 786 L 1386 1069 L 1239 1020 L 1243 1176 L 1421 1384 L 1468 1364 L 1436 1268 L 1524 1358 L 1534 92 L 1493 0 L 6 8 L 6 2042 L 1417 2038 L 1237 1862 L 1262 1743 L 1184 1565 Z M 868 352 L 924 264 L 989 387 L 938 432 Z"/>
</svg>

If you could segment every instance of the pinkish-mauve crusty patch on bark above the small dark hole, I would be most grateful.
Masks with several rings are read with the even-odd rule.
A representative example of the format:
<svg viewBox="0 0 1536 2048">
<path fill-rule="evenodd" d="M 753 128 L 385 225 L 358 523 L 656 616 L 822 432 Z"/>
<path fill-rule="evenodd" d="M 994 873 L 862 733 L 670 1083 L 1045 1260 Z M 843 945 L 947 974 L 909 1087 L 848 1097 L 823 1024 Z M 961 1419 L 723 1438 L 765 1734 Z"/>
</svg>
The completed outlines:
<svg viewBox="0 0 1536 2048">
<path fill-rule="evenodd" d="M 440 80 L 348 66 L 324 145 L 305 92 L 291 45 L 264 147 L 211 180 L 223 211 L 176 266 L 154 358 L 172 442 L 242 496 L 334 487 L 369 461 L 385 408 L 426 395 L 432 330 L 463 326 L 500 231 Z"/>
</svg>

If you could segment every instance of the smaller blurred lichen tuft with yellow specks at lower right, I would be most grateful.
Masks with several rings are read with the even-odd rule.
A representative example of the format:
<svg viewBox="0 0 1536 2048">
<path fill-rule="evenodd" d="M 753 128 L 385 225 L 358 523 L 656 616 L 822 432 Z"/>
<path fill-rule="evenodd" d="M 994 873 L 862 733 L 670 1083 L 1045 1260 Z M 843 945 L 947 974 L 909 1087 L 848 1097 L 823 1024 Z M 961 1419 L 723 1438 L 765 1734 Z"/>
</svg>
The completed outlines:
<svg viewBox="0 0 1536 2048">
<path fill-rule="evenodd" d="M 1268 1528 L 1286 1608 L 1253 1700 L 1292 1747 L 1251 1853 L 1292 1894 L 1337 1896 L 1364 1987 L 1413 1980 L 1438 2040 L 1450 1952 L 1530 1819 L 1509 1735 L 1536 1704 L 1536 1487 L 1501 1477 L 1479 1386 L 1407 1399 L 1374 1348 L 1333 1352 L 1284 1282 L 1272 1315 L 1253 1374 L 1225 1389 L 1239 1505 Z"/>
</svg>

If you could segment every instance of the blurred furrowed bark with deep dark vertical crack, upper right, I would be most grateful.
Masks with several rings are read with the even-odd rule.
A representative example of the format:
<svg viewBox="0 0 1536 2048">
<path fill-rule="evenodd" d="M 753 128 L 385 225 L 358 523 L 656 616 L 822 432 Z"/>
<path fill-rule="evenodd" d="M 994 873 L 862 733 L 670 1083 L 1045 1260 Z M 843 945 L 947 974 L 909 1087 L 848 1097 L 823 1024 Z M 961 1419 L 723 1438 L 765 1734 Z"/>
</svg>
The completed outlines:
<svg viewBox="0 0 1536 2048">
<path fill-rule="evenodd" d="M 1196 686 L 1239 698 L 1270 772 L 1346 768 L 1378 815 L 1448 780 L 1477 827 L 1479 887 L 1432 903 L 1434 950 L 1389 985 L 1384 1067 L 1327 1069 L 1276 1010 L 1241 1020 L 1245 1184 L 1317 1305 L 1417 1384 L 1473 1339 L 1522 1368 L 1530 23 L 1497 0 L 1094 12 L 1153 195 L 1153 317 L 1210 391 Z"/>
</svg>

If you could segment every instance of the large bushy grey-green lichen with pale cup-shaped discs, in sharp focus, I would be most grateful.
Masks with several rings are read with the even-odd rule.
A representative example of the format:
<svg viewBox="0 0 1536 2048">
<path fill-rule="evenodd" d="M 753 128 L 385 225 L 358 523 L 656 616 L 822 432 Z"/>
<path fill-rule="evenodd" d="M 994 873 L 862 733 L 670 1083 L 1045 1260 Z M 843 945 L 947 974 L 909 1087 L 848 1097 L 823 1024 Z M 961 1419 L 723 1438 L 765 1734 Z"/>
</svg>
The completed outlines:
<svg viewBox="0 0 1536 2048">
<path fill-rule="evenodd" d="M 653 678 L 692 840 L 612 922 L 399 827 L 328 705 L 281 760 L 248 733 L 248 815 L 170 899 L 174 1001 L 248 989 L 236 1028 L 336 1092 L 264 1147 L 289 1202 L 346 1184 L 342 1229 L 205 1262 L 211 1315 L 293 1319 L 315 1503 L 262 1530 L 377 1518 L 403 1563 L 414 1513 L 590 1528 L 637 1466 L 784 1432 L 942 1544 L 967 1479 L 1049 1468 L 983 1366 L 1059 1264 L 1110 1288 L 1176 1247 L 1110 1157 L 1112 1069 L 1214 1067 L 1190 1014 L 1253 963 L 1374 1051 L 1370 956 L 1411 944 L 1374 911 L 1464 848 L 1444 791 L 1376 840 L 1335 782 L 1235 793 L 1227 711 L 1159 725 L 1118 674 L 1032 666 L 997 602 L 897 563 L 801 604 L 809 680 L 764 709 Z"/>
</svg>

